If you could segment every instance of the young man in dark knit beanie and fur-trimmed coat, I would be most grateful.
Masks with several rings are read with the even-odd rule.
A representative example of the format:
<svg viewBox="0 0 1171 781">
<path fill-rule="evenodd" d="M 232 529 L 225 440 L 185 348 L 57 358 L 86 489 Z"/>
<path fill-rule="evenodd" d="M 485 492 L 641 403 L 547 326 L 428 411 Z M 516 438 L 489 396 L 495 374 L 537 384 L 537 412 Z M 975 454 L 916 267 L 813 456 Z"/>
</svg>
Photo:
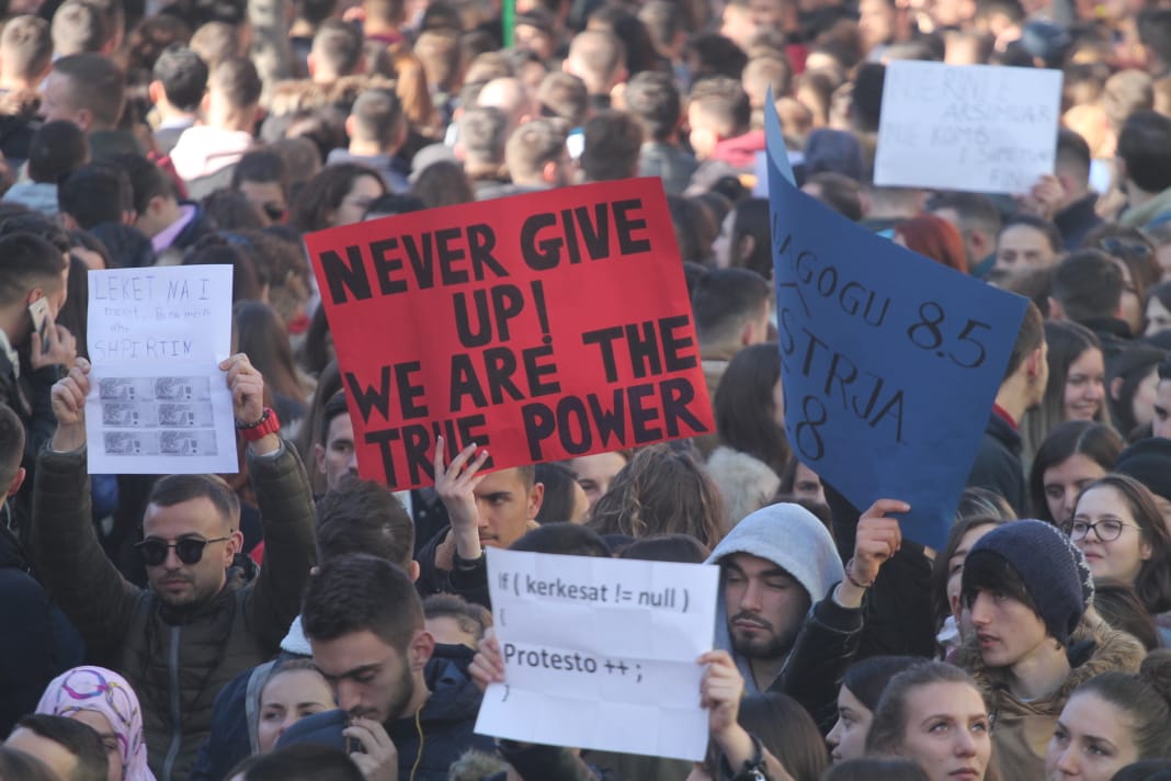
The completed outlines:
<svg viewBox="0 0 1171 781">
<path fill-rule="evenodd" d="M 1057 527 L 1015 521 L 984 535 L 964 561 L 964 608 L 974 633 L 957 655 L 985 690 L 1000 765 L 1045 775 L 1045 753 L 1075 688 L 1111 670 L 1136 672 L 1145 649 L 1095 614 L 1094 577 Z"/>
</svg>

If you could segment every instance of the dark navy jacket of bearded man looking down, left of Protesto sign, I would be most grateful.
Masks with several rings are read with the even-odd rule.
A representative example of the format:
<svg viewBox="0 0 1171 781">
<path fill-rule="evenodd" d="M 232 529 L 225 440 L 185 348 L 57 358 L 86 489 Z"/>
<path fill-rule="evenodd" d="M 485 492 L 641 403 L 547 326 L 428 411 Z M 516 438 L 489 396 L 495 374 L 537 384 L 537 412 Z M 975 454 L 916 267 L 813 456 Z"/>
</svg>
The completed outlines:
<svg viewBox="0 0 1171 781">
<path fill-rule="evenodd" d="M 447 768 L 467 749 L 495 751 L 492 738 L 473 733 L 480 690 L 467 674 L 472 653 L 464 646 L 437 645 L 425 671 L 431 697 L 418 718 L 411 715 L 384 725 L 398 749 L 402 781 L 447 781 Z M 324 744 L 345 751 L 345 724 L 340 711 L 317 713 L 289 727 L 276 746 Z"/>
</svg>

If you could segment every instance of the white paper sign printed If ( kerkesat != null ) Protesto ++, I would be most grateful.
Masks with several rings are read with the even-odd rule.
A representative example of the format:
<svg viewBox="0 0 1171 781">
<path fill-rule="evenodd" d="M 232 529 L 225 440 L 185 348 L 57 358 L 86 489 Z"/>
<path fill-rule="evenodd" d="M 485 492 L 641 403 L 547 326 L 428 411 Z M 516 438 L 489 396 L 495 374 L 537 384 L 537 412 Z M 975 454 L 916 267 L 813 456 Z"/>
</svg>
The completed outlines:
<svg viewBox="0 0 1171 781">
<path fill-rule="evenodd" d="M 528 742 L 698 761 L 719 568 L 488 548 L 506 684 L 475 731 Z"/>
</svg>

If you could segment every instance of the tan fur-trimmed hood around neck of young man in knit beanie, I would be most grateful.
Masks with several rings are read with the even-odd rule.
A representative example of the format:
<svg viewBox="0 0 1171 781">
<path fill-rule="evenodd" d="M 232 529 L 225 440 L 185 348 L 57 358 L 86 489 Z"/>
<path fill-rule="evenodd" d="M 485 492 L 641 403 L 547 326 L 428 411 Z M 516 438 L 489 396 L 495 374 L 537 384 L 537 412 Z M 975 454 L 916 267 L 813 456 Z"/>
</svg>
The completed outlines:
<svg viewBox="0 0 1171 781">
<path fill-rule="evenodd" d="M 1008 692 L 1008 679 L 1004 670 L 985 666 L 974 636 L 956 653 L 956 664 L 972 673 L 992 701 L 994 711 L 1056 717 L 1069 696 L 1084 681 L 1103 672 L 1138 672 L 1138 665 L 1146 656 L 1142 643 L 1131 635 L 1111 628 L 1093 609 L 1086 611 L 1066 652 L 1073 669 L 1064 683 L 1049 697 L 1032 703 L 1022 703 Z"/>
</svg>

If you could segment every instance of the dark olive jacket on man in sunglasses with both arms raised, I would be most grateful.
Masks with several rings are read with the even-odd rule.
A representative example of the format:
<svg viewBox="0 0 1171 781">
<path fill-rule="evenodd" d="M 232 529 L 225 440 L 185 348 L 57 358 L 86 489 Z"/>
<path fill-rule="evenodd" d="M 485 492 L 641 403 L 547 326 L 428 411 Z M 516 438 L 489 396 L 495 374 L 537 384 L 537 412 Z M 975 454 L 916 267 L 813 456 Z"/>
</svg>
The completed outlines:
<svg viewBox="0 0 1171 781">
<path fill-rule="evenodd" d="M 215 694 L 276 652 L 314 564 L 313 494 L 296 452 L 249 453 L 248 472 L 265 523 L 266 566 L 247 583 L 230 570 L 208 603 L 179 612 L 126 582 L 102 553 L 90 522 L 84 450 L 44 450 L 37 461 L 35 569 L 93 659 L 121 672 L 138 693 L 159 781 L 187 777 L 211 729 Z"/>
</svg>

